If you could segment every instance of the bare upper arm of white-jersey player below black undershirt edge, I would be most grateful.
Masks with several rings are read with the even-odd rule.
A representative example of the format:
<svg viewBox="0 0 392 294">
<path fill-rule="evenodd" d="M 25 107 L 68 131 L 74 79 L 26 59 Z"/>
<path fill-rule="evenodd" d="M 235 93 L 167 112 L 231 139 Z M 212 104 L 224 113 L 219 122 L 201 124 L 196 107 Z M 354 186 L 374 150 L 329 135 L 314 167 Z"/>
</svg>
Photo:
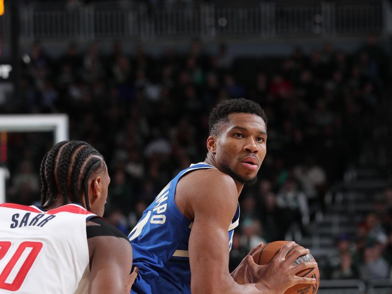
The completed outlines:
<svg viewBox="0 0 392 294">
<path fill-rule="evenodd" d="M 96 236 L 88 239 L 88 245 L 91 267 L 89 293 L 124 294 L 132 268 L 132 248 L 128 240 Z"/>
</svg>

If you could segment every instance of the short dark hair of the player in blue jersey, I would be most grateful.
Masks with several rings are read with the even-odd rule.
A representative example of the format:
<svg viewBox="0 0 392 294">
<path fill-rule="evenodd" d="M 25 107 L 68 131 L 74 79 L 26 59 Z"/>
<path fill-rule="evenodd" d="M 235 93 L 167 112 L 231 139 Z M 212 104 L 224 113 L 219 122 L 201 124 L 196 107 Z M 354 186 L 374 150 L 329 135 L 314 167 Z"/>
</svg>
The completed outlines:
<svg viewBox="0 0 392 294">
<path fill-rule="evenodd" d="M 221 123 L 228 122 L 228 116 L 232 113 L 250 113 L 258 115 L 263 119 L 267 126 L 267 116 L 261 106 L 245 98 L 229 99 L 219 103 L 211 111 L 209 124 L 209 134 L 218 135 Z"/>
</svg>

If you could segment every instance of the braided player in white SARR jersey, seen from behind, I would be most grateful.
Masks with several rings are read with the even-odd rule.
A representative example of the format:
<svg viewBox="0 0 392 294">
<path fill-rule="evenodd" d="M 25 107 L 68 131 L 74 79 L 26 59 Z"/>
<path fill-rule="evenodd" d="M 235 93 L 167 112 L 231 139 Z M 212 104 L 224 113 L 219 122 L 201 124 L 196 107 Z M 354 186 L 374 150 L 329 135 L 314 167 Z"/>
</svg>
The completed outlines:
<svg viewBox="0 0 392 294">
<path fill-rule="evenodd" d="M 85 142 L 57 143 L 40 178 L 42 206 L 0 204 L 0 293 L 129 293 L 131 245 L 102 219 L 102 155 Z"/>
</svg>

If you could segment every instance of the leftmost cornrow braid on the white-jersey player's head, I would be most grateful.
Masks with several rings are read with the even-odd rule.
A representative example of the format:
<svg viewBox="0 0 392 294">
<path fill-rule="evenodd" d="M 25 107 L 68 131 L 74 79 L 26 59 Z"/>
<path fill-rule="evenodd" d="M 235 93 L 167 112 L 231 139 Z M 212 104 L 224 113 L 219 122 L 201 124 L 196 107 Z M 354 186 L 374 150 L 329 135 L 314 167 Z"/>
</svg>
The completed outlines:
<svg viewBox="0 0 392 294">
<path fill-rule="evenodd" d="M 43 208 L 47 208 L 50 204 L 53 203 L 56 194 L 57 194 L 57 189 L 56 189 L 56 182 L 53 174 L 54 170 L 54 160 L 56 158 L 57 152 L 62 147 L 64 144 L 66 144 L 68 141 L 61 141 L 54 145 L 50 151 L 47 153 L 48 156 L 46 156 L 45 159 L 45 177 L 44 180 L 46 182 L 46 193 L 45 195 L 41 195 L 42 199 L 41 202 L 43 202 Z"/>
</svg>

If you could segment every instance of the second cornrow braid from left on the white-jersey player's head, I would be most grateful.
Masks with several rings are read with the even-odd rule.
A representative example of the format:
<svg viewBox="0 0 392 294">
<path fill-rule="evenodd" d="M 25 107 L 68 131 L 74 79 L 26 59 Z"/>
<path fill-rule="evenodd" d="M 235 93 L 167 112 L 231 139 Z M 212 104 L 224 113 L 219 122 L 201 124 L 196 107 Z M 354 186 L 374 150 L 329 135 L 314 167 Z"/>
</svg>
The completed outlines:
<svg viewBox="0 0 392 294">
<path fill-rule="evenodd" d="M 63 196 L 63 204 L 68 203 L 68 188 L 67 188 L 67 175 L 68 175 L 68 170 L 71 166 L 70 158 L 72 156 L 73 151 L 75 150 L 75 147 L 86 144 L 85 142 L 82 141 L 72 141 L 67 143 L 63 148 L 61 148 L 61 153 L 59 154 L 59 159 L 56 164 L 56 178 L 59 186 L 59 190 Z M 74 200 L 79 200 L 79 196 L 74 197 L 76 199 Z"/>
</svg>

